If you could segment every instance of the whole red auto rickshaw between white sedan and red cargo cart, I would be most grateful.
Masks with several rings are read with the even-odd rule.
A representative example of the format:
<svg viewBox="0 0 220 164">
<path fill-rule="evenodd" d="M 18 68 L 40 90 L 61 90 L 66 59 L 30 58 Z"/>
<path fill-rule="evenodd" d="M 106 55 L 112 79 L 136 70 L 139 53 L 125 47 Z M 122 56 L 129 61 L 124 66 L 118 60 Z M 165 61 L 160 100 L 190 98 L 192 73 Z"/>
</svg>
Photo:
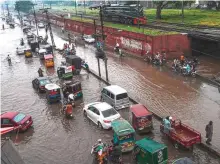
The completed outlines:
<svg viewBox="0 0 220 164">
<path fill-rule="evenodd" d="M 132 126 L 139 133 L 148 133 L 153 129 L 152 113 L 142 104 L 132 105 Z"/>
</svg>

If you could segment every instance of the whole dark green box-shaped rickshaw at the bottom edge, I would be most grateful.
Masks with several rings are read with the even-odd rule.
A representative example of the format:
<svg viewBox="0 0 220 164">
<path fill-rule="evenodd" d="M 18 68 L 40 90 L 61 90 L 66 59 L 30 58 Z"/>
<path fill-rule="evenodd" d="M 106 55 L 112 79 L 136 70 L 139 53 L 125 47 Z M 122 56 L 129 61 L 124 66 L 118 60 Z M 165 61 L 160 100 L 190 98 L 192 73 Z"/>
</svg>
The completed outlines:
<svg viewBox="0 0 220 164">
<path fill-rule="evenodd" d="M 167 164 L 167 146 L 149 138 L 136 141 L 133 150 L 133 159 L 137 164 Z"/>
</svg>

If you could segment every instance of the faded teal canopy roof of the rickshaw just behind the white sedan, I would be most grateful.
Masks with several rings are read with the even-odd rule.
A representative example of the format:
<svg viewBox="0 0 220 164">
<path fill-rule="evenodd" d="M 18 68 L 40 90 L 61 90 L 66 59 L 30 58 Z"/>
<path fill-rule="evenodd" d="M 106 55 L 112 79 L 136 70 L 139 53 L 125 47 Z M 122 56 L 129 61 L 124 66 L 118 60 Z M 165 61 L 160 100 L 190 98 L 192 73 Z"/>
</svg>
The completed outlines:
<svg viewBox="0 0 220 164">
<path fill-rule="evenodd" d="M 130 123 L 124 119 L 112 121 L 111 125 L 117 136 L 124 136 L 127 134 L 135 133 L 135 130 L 130 125 Z"/>
</svg>

